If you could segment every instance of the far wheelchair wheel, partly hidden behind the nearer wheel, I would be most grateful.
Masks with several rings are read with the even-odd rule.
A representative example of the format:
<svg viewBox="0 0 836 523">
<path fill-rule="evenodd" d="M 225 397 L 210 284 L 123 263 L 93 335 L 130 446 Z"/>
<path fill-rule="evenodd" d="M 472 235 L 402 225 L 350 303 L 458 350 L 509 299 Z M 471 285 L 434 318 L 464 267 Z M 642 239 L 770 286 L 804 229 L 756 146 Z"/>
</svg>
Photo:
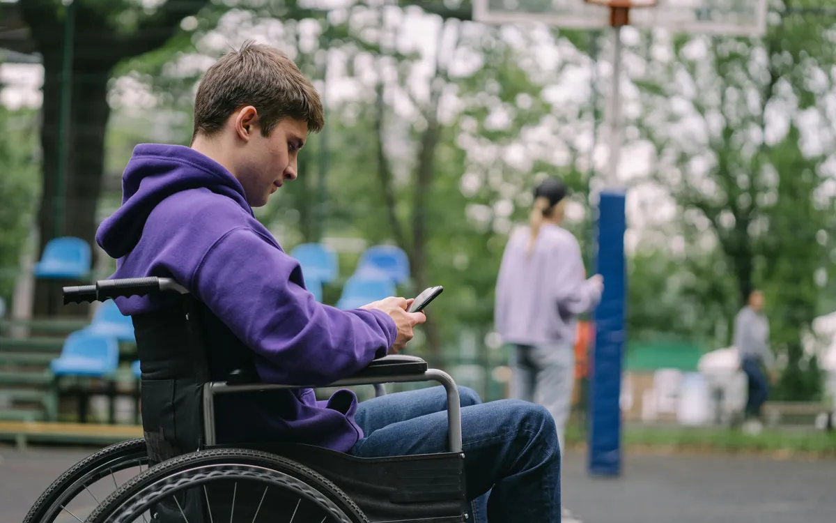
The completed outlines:
<svg viewBox="0 0 836 523">
<path fill-rule="evenodd" d="M 98 505 L 99 500 L 104 500 L 104 495 L 100 494 L 97 499 L 90 490 L 95 482 L 112 476 L 116 487 L 118 485 L 115 474 L 132 468 L 138 468 L 136 474 L 140 474 L 143 466 L 148 466 L 148 453 L 145 440 L 142 438 L 123 441 L 90 454 L 61 474 L 59 479 L 55 479 L 52 485 L 43 491 L 29 509 L 23 523 L 53 523 L 64 512 L 69 513 L 70 519 L 79 519 L 79 514 L 74 514 L 76 510 L 69 507 L 76 496 L 81 494 L 89 498 L 89 502 Z"/>
</svg>

